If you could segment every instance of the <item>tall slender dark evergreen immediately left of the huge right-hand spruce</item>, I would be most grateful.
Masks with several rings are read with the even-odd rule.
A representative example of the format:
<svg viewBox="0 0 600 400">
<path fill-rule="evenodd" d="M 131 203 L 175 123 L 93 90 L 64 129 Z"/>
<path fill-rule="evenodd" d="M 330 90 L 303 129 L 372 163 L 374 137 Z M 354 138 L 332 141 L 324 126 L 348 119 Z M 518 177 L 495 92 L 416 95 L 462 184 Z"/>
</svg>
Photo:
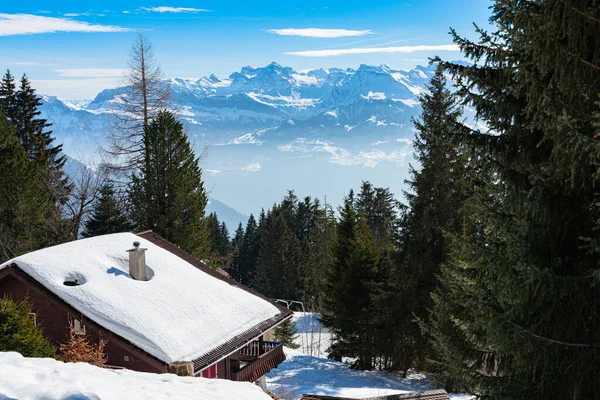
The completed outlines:
<svg viewBox="0 0 600 400">
<path fill-rule="evenodd" d="M 462 210 L 473 185 L 467 173 L 468 153 L 460 151 L 455 143 L 461 110 L 446 88 L 441 70 L 433 76 L 420 101 L 423 111 L 413 121 L 414 157 L 420 169 L 411 166 L 411 180 L 406 181 L 408 205 L 401 220 L 397 265 L 387 279 L 381 279 L 394 284 L 381 285 L 378 293 L 381 307 L 393 309 L 389 310 L 393 318 L 389 318 L 388 310 L 382 318 L 382 322 L 389 319 L 382 330 L 390 334 L 395 331 L 397 338 L 391 347 L 390 368 L 403 371 L 411 366 L 424 367 L 425 358 L 431 357 L 415 316 L 427 319 L 436 276 L 448 259 L 445 234 L 461 230 Z"/>
</svg>

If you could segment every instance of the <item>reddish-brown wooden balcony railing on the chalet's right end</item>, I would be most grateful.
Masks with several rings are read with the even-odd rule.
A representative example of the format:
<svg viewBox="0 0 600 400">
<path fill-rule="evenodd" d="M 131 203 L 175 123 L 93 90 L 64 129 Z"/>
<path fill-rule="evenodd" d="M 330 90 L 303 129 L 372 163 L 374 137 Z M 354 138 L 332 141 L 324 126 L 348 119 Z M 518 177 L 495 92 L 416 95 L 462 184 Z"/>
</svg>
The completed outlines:
<svg viewBox="0 0 600 400">
<path fill-rule="evenodd" d="M 231 371 L 232 381 L 254 382 L 261 376 L 277 368 L 279 364 L 285 361 L 283 353 L 283 344 L 279 342 L 263 343 L 263 353 L 260 351 L 260 342 L 255 340 L 246 347 L 240 349 L 241 356 L 256 357 L 238 371 Z"/>
</svg>

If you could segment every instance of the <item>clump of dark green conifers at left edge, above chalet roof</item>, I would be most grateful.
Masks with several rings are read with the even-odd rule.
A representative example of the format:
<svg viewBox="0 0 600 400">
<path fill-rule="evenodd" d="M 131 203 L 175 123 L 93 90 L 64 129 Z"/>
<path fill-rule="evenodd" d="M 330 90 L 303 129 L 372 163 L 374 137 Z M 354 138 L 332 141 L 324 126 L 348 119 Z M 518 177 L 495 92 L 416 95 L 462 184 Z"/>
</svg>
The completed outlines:
<svg viewBox="0 0 600 400">
<path fill-rule="evenodd" d="M 6 233 L 7 236 L 2 240 L 6 243 L 2 250 L 4 256 L 14 256 L 69 239 L 69 224 L 62 217 L 62 206 L 71 190 L 62 171 L 65 157 L 61 154 L 60 145 L 52 147 L 54 139 L 51 132 L 47 131 L 50 124 L 39 118 L 40 105 L 41 99 L 31 88 L 28 79 L 23 76 L 17 89 L 13 76 L 7 71 L 0 83 L 2 134 L 4 145 L 9 147 L 14 146 L 13 139 L 16 136 L 20 149 L 14 150 L 14 154 L 10 150 L 11 156 L 3 161 L 6 162 L 7 171 L 10 171 L 12 167 L 9 165 L 14 162 L 20 167 L 15 167 L 17 170 L 13 176 L 2 177 L 8 185 L 7 190 L 10 188 L 10 192 L 3 192 L 5 200 L 21 211 L 13 210 L 10 219 L 5 214 L 7 229 L 12 233 Z M 8 133 L 8 126 L 12 128 L 12 133 Z M 25 164 L 15 161 L 21 158 L 21 154 L 25 155 Z M 8 182 L 18 185 L 17 179 L 22 179 L 22 187 L 15 189 Z M 31 185 L 35 185 L 35 188 Z M 36 209 L 30 216 L 25 215 L 23 210 L 31 210 L 33 204 Z"/>
</svg>

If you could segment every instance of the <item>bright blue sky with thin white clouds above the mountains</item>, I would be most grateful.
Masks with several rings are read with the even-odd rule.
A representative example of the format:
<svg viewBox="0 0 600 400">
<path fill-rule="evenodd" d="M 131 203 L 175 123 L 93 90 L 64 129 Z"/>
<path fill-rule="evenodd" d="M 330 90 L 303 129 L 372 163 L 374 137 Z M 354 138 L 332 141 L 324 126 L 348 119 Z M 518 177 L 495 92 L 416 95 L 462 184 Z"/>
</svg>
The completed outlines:
<svg viewBox="0 0 600 400">
<path fill-rule="evenodd" d="M 167 77 L 225 77 L 271 61 L 298 70 L 410 69 L 435 54 L 460 58 L 447 47 L 449 28 L 472 36 L 473 22 L 487 25 L 491 1 L 4 3 L 0 68 L 26 72 L 40 93 L 85 99 L 119 82 L 138 31 L 154 44 Z"/>
</svg>

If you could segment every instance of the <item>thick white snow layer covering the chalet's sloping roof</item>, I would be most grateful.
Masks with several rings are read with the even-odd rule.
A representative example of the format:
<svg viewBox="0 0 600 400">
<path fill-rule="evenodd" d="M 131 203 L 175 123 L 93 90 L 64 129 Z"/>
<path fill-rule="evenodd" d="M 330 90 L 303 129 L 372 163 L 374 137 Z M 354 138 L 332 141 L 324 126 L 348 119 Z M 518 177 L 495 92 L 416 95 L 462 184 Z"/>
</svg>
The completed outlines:
<svg viewBox="0 0 600 400">
<path fill-rule="evenodd" d="M 126 250 L 147 248 L 149 281 L 129 276 Z M 156 358 L 192 361 L 280 310 L 134 235 L 116 233 L 28 253 L 15 263 L 85 317 Z M 83 282 L 65 286 L 67 279 Z"/>
</svg>

